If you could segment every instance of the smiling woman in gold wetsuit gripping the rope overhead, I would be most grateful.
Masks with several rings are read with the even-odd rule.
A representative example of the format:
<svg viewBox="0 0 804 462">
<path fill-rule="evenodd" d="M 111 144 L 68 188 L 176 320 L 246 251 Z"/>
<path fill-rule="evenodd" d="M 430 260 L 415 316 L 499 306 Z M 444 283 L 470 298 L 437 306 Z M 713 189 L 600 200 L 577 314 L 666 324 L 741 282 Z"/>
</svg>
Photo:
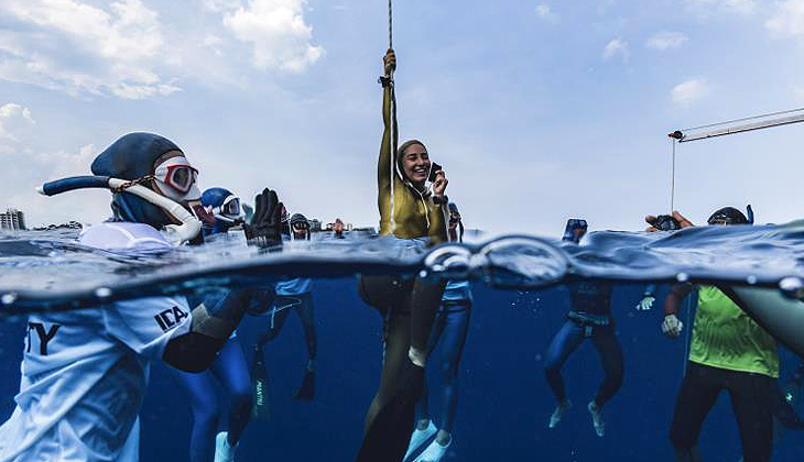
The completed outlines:
<svg viewBox="0 0 804 462">
<path fill-rule="evenodd" d="M 437 245 L 448 240 L 448 199 L 444 195 L 447 178 L 437 170 L 432 188 L 426 188 L 433 164 L 421 141 L 411 140 L 394 150 L 396 114 L 391 75 L 396 58 L 392 50 L 383 63 L 385 76 L 380 81 L 384 131 L 377 166 L 380 235 Z M 399 462 L 408 449 L 414 405 L 424 387 L 427 340 L 444 282 L 363 276 L 359 290 L 362 299 L 383 316 L 384 356 L 380 387 L 366 416 L 357 460 Z"/>
</svg>

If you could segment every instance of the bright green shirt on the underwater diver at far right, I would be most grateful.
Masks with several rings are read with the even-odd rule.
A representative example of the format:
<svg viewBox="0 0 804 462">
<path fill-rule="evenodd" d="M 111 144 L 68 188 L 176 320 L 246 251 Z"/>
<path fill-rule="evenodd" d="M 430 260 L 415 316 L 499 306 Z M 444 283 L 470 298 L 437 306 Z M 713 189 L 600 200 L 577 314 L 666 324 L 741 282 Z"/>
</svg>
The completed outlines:
<svg viewBox="0 0 804 462">
<path fill-rule="evenodd" d="M 698 287 L 689 361 L 779 378 L 776 341 L 714 286 Z"/>
</svg>

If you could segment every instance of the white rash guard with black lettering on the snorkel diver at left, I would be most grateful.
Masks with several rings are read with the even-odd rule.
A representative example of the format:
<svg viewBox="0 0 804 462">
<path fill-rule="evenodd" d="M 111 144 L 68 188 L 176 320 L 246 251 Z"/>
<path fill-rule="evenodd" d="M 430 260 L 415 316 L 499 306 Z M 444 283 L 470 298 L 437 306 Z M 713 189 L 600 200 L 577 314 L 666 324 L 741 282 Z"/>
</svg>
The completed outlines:
<svg viewBox="0 0 804 462">
<path fill-rule="evenodd" d="M 170 246 L 148 224 L 102 223 L 79 241 L 107 250 Z M 149 361 L 189 331 L 185 297 L 150 297 L 31 315 L 17 408 L 0 462 L 135 462 Z"/>
</svg>

